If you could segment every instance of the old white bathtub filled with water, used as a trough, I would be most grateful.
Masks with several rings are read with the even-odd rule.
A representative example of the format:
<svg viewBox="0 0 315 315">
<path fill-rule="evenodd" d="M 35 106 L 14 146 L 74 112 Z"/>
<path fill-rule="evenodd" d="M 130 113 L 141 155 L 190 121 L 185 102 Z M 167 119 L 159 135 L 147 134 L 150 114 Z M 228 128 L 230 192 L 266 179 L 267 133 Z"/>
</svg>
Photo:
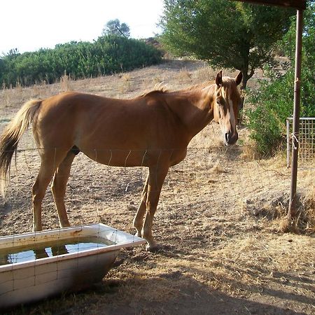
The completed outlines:
<svg viewBox="0 0 315 315">
<path fill-rule="evenodd" d="M 98 239 L 99 244 L 56 246 L 86 237 Z M 103 244 L 104 239 L 111 244 Z M 0 309 L 101 281 L 120 248 L 145 243 L 102 223 L 0 237 Z"/>
</svg>

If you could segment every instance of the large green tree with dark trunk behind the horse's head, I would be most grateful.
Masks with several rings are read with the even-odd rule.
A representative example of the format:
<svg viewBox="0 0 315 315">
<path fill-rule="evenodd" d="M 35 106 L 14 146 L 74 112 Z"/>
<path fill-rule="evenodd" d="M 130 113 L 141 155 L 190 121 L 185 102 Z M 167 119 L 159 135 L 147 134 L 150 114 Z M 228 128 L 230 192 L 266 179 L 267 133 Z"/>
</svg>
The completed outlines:
<svg viewBox="0 0 315 315">
<path fill-rule="evenodd" d="M 293 10 L 238 1 L 165 0 L 162 43 L 176 55 L 194 55 L 211 66 L 238 69 L 242 89 L 255 69 L 272 62 L 274 44 Z"/>
</svg>

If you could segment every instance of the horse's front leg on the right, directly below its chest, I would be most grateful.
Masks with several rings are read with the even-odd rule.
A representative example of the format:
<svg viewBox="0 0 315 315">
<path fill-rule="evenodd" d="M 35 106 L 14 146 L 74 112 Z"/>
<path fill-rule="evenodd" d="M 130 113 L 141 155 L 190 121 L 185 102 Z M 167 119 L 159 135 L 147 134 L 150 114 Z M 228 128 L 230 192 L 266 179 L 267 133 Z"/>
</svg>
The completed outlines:
<svg viewBox="0 0 315 315">
<path fill-rule="evenodd" d="M 147 251 L 156 251 L 158 249 L 158 245 L 152 236 L 153 218 L 156 208 L 158 207 L 162 185 L 168 170 L 168 166 L 155 166 L 149 168 L 146 196 L 146 218 L 144 219 L 144 227 L 141 232 L 142 237 L 148 242 L 148 245 L 146 246 Z"/>
</svg>

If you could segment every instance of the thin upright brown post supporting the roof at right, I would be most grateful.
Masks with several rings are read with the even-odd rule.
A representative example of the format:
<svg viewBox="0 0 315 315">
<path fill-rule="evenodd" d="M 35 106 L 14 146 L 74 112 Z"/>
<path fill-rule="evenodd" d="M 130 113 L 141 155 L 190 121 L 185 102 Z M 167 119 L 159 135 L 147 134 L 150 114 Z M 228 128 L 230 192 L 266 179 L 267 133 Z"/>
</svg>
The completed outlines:
<svg viewBox="0 0 315 315">
<path fill-rule="evenodd" d="M 294 109 L 293 109 L 293 134 L 292 134 L 292 169 L 290 203 L 288 207 L 288 228 L 292 228 L 292 216 L 296 211 L 296 183 L 297 183 L 297 155 L 299 148 L 300 127 L 300 97 L 301 97 L 301 68 L 302 68 L 302 29 L 303 10 L 297 10 L 296 44 L 295 44 L 295 80 L 294 80 Z"/>
</svg>

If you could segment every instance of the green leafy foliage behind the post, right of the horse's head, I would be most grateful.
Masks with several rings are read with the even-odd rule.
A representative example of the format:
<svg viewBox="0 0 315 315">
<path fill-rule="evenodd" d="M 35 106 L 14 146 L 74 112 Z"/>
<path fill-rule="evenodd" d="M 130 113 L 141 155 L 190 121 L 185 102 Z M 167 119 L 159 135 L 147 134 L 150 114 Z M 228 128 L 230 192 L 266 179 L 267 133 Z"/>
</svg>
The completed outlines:
<svg viewBox="0 0 315 315">
<path fill-rule="evenodd" d="M 302 38 L 302 83 L 300 116 L 315 117 L 315 5 L 309 6 L 304 13 Z M 269 71 L 269 81 L 262 83 L 260 89 L 251 92 L 250 101 L 255 108 L 248 111 L 248 126 L 262 155 L 273 153 L 286 137 L 286 118 L 293 115 L 293 86 L 295 60 L 295 25 L 292 18 L 290 29 L 279 48 L 290 57 L 290 67 L 283 75 L 274 69 Z"/>
</svg>

